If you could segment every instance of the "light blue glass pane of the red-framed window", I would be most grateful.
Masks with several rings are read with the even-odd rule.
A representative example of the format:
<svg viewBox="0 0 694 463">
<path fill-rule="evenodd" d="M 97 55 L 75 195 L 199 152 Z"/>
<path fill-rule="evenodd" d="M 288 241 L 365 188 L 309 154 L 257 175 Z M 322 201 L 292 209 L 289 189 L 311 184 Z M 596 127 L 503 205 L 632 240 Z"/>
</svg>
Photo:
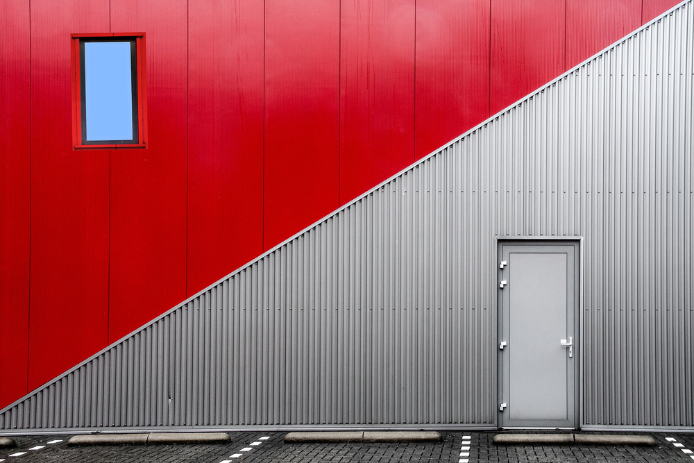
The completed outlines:
<svg viewBox="0 0 694 463">
<path fill-rule="evenodd" d="M 133 139 L 130 42 L 85 42 L 87 141 Z"/>
</svg>

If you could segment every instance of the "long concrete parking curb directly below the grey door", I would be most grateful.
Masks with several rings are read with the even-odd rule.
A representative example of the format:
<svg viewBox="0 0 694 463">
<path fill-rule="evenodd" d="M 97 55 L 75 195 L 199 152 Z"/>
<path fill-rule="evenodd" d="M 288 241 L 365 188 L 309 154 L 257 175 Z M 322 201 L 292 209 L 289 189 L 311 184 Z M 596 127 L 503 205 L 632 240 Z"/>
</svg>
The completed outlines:
<svg viewBox="0 0 694 463">
<path fill-rule="evenodd" d="M 654 446 L 650 436 L 602 434 L 498 434 L 492 442 L 497 445 L 581 444 L 600 446 Z"/>
</svg>

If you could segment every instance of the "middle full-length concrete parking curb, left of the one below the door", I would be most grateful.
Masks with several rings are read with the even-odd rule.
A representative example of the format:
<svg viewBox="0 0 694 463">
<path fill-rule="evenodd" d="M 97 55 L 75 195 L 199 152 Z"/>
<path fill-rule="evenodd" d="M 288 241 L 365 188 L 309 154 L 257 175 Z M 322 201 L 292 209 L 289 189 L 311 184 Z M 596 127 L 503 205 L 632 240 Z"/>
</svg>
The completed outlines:
<svg viewBox="0 0 694 463">
<path fill-rule="evenodd" d="M 441 441 L 437 431 L 332 431 L 289 432 L 288 444 L 299 442 L 430 442 Z"/>
</svg>

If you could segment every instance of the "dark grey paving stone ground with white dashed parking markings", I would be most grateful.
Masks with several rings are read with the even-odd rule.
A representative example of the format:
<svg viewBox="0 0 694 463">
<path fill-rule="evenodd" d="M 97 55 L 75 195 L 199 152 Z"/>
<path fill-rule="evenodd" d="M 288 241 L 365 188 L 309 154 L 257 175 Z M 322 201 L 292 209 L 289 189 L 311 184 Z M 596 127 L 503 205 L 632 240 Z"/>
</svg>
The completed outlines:
<svg viewBox="0 0 694 463">
<path fill-rule="evenodd" d="M 469 463 L 694 463 L 694 434 L 643 433 L 656 439 L 655 447 L 634 446 L 497 446 L 491 439 L 497 432 L 446 432 L 441 442 L 418 443 L 335 443 L 285 444 L 286 432 L 230 432 L 227 444 L 177 444 L 147 446 L 67 446 L 71 435 L 14 437 L 18 447 L 0 449 L 0 460 L 6 463 L 34 462 L 294 462 L 294 463 L 396 463 L 449 462 L 466 458 Z M 616 434 L 602 432 L 598 434 Z M 471 436 L 469 455 L 461 457 L 462 437 Z M 269 437 L 269 439 L 260 439 Z M 675 439 L 668 441 L 667 438 Z M 57 444 L 49 441 L 61 439 Z M 260 442 L 260 444 L 251 445 Z M 675 444 L 682 444 L 677 447 Z M 44 446 L 30 450 L 35 446 Z M 242 451 L 251 448 L 250 451 Z M 10 457 L 16 453 L 23 453 Z M 241 454 L 240 457 L 230 457 Z"/>
</svg>

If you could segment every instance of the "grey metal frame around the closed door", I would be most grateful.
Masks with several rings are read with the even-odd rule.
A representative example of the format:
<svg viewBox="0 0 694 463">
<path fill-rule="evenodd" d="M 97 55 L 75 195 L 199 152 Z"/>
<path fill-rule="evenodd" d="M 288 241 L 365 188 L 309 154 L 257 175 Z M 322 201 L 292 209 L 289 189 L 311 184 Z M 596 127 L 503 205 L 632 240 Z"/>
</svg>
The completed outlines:
<svg viewBox="0 0 694 463">
<path fill-rule="evenodd" d="M 503 382 L 505 380 L 504 372 L 504 352 L 500 348 L 500 343 L 503 341 L 502 336 L 505 332 L 504 320 L 502 317 L 503 307 L 502 303 L 504 301 L 504 296 L 502 295 L 503 289 L 500 287 L 502 281 L 503 270 L 500 268 L 502 262 L 502 246 L 528 246 L 527 249 L 530 251 L 530 246 L 574 246 L 574 332 L 575 339 L 573 343 L 573 376 L 574 376 L 574 423 L 573 426 L 568 426 L 570 429 L 579 429 L 581 423 L 583 423 L 583 381 L 582 381 L 582 371 L 583 371 L 583 357 L 581 355 L 581 343 L 582 343 L 582 326 L 583 326 L 583 313 L 582 313 L 582 294 L 583 294 L 583 237 L 496 237 L 496 255 L 497 255 L 497 292 L 496 292 L 496 314 L 497 314 L 497 403 L 495 404 L 497 412 L 497 423 L 498 427 L 501 428 L 503 421 L 503 413 L 500 411 L 500 405 L 503 403 L 504 389 Z M 509 428 L 551 428 L 555 429 L 556 426 L 509 426 Z M 563 426 L 561 427 L 563 428 Z"/>
</svg>

